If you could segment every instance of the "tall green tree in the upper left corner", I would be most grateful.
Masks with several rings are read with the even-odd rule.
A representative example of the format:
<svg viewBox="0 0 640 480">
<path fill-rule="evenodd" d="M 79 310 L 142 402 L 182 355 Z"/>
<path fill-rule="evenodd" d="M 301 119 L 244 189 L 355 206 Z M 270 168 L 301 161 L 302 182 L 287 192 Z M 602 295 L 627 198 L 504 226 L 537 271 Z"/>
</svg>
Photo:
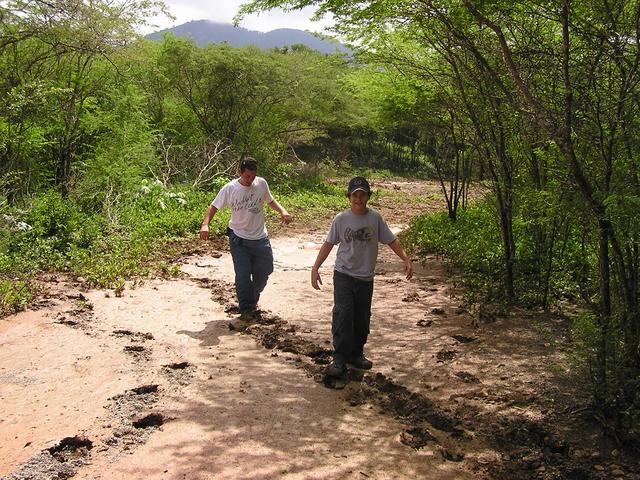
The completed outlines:
<svg viewBox="0 0 640 480">
<path fill-rule="evenodd" d="M 0 3 L 0 63 L 7 67 L 0 75 L 6 99 L 0 155 L 8 160 L 2 174 L 10 201 L 25 178 L 50 178 L 69 193 L 74 161 L 86 145 L 81 119 L 104 82 L 105 65 L 114 67 L 115 52 L 137 36 L 136 26 L 163 8 L 153 0 Z M 35 95 L 27 99 L 29 92 Z"/>
</svg>

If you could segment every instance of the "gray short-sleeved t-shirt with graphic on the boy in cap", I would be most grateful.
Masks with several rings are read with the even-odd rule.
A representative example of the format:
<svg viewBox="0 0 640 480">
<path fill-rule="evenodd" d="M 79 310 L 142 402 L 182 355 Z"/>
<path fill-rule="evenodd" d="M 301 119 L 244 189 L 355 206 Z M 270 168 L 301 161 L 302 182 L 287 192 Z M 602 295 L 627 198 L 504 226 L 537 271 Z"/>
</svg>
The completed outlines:
<svg viewBox="0 0 640 480">
<path fill-rule="evenodd" d="M 378 258 L 378 242 L 396 239 L 382 215 L 367 209 L 363 215 L 351 209 L 339 213 L 331 223 L 326 241 L 338 245 L 335 269 L 360 280 L 372 280 Z"/>
</svg>

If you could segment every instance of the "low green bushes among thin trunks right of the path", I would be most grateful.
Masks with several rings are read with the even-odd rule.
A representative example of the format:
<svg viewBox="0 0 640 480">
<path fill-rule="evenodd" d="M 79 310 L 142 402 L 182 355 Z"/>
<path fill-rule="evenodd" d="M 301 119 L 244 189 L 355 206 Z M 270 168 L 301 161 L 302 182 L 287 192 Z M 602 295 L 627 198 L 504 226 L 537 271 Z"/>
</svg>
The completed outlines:
<svg viewBox="0 0 640 480">
<path fill-rule="evenodd" d="M 543 225 L 544 227 L 544 225 Z M 597 264 L 594 249 L 585 246 L 590 232 L 580 225 L 564 225 L 556 233 L 553 263 L 547 265 L 535 242 L 536 233 L 550 237 L 550 229 L 536 231 L 531 222 L 517 215 L 513 219 L 516 240 L 514 284 L 517 303 L 527 308 L 548 308 L 544 297 L 545 275 L 549 274 L 548 295 L 552 301 L 575 300 L 580 292 L 597 289 L 595 272 L 589 265 Z M 459 267 L 470 287 L 468 295 L 500 300 L 504 291 L 504 257 L 500 226 L 495 206 L 489 201 L 471 204 L 451 222 L 446 213 L 418 217 L 405 234 L 413 248 L 442 255 Z M 548 247 L 548 245 L 545 245 Z M 597 253 L 597 252 L 596 252 Z"/>
</svg>

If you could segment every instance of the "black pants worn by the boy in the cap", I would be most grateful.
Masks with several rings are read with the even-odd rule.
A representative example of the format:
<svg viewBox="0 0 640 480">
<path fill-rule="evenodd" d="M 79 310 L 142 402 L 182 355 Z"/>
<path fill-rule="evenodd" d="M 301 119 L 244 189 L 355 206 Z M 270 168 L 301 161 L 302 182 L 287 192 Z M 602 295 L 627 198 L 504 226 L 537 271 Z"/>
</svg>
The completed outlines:
<svg viewBox="0 0 640 480">
<path fill-rule="evenodd" d="M 373 280 L 333 272 L 333 360 L 345 363 L 364 353 L 371 320 Z"/>
</svg>

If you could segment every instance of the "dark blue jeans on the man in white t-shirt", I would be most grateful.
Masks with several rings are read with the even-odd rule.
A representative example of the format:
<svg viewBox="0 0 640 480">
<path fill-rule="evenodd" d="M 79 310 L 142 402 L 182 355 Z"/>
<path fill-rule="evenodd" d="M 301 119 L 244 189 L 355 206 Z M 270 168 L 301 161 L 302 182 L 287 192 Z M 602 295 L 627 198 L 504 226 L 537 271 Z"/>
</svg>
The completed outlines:
<svg viewBox="0 0 640 480">
<path fill-rule="evenodd" d="M 246 240 L 227 229 L 229 249 L 236 272 L 236 294 L 241 312 L 256 308 L 258 297 L 273 272 L 273 252 L 267 237 Z"/>
</svg>

